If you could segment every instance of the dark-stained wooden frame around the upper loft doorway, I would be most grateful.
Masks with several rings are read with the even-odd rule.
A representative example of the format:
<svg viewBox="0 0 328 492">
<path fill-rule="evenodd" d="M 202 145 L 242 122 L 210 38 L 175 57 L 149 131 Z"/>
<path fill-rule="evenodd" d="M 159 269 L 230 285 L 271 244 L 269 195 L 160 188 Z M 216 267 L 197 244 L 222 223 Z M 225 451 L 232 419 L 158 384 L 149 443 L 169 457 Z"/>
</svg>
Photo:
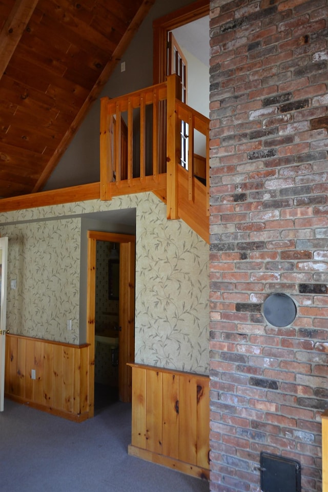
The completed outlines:
<svg viewBox="0 0 328 492">
<path fill-rule="evenodd" d="M 153 84 L 166 80 L 168 32 L 210 13 L 210 0 L 198 0 L 153 22 Z"/>
</svg>

